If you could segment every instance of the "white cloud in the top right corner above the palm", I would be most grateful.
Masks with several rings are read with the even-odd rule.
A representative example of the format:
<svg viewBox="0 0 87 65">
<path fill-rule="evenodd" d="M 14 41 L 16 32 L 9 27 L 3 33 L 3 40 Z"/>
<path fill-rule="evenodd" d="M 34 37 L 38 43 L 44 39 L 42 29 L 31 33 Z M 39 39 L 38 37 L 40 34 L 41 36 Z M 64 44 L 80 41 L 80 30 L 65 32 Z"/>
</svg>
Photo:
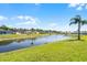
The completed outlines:
<svg viewBox="0 0 87 65">
<path fill-rule="evenodd" d="M 68 7 L 81 11 L 83 9 L 87 9 L 87 3 L 69 3 Z"/>
</svg>

